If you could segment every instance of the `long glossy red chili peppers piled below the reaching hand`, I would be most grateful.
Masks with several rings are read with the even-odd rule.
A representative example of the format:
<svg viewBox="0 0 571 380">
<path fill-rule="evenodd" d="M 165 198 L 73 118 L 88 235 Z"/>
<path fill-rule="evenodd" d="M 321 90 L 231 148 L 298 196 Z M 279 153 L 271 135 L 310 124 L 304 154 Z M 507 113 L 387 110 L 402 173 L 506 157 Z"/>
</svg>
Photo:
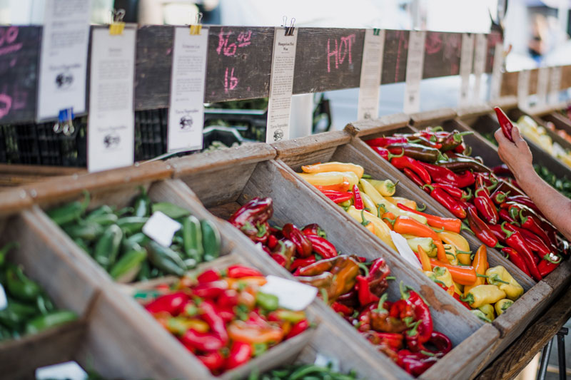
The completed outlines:
<svg viewBox="0 0 571 380">
<path fill-rule="evenodd" d="M 506 125 L 505 133 L 508 129 Z M 468 222 L 485 245 L 501 249 L 522 272 L 539 281 L 568 255 L 569 244 L 529 197 L 500 191 L 502 182 L 495 174 L 500 169 L 490 170 L 482 158 L 470 157 L 465 134 L 436 127 L 365 143 Z"/>
</svg>

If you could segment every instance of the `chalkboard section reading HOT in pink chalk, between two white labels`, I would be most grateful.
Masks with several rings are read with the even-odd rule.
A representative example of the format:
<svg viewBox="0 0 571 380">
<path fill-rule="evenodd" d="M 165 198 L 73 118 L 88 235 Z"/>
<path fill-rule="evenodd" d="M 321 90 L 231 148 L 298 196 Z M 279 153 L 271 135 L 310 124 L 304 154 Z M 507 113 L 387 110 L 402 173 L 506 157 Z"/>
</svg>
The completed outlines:
<svg viewBox="0 0 571 380">
<path fill-rule="evenodd" d="M 359 87 L 364 29 L 297 29 L 293 93 Z"/>
</svg>

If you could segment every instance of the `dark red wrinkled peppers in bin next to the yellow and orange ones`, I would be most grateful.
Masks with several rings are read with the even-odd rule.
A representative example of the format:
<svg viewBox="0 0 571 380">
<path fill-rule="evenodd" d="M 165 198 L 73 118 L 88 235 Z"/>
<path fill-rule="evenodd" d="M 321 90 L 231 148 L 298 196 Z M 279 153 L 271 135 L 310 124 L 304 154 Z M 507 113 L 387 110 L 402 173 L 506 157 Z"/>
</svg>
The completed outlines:
<svg viewBox="0 0 571 380">
<path fill-rule="evenodd" d="M 318 225 L 280 229 L 268 224 L 272 215 L 271 198 L 254 198 L 229 221 L 300 282 L 317 287 L 325 303 L 409 374 L 422 374 L 452 349 L 450 339 L 433 330 L 417 292 L 401 283 L 401 298 L 388 301 L 385 290 L 394 277 L 383 258 L 338 254 Z"/>
</svg>

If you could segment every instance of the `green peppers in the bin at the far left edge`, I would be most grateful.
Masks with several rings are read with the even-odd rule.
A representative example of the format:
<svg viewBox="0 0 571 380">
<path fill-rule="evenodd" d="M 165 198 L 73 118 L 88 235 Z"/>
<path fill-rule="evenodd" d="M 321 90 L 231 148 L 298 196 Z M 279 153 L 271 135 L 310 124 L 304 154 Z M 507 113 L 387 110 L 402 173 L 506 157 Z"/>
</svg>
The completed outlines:
<svg viewBox="0 0 571 380">
<path fill-rule="evenodd" d="M 15 246 L 11 243 L 0 250 L 0 284 L 8 300 L 0 310 L 0 342 L 77 319 L 74 312 L 56 309 L 39 284 L 26 277 L 21 267 L 6 261 L 6 254 Z"/>
</svg>

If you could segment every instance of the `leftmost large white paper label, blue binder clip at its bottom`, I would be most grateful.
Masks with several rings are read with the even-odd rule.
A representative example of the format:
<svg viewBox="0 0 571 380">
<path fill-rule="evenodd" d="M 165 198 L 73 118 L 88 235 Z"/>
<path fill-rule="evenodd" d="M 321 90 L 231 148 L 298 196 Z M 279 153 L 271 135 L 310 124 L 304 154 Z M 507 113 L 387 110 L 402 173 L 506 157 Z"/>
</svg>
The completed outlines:
<svg viewBox="0 0 571 380">
<path fill-rule="evenodd" d="M 46 0 L 38 83 L 38 120 L 60 110 L 84 113 L 91 0 Z"/>
</svg>

